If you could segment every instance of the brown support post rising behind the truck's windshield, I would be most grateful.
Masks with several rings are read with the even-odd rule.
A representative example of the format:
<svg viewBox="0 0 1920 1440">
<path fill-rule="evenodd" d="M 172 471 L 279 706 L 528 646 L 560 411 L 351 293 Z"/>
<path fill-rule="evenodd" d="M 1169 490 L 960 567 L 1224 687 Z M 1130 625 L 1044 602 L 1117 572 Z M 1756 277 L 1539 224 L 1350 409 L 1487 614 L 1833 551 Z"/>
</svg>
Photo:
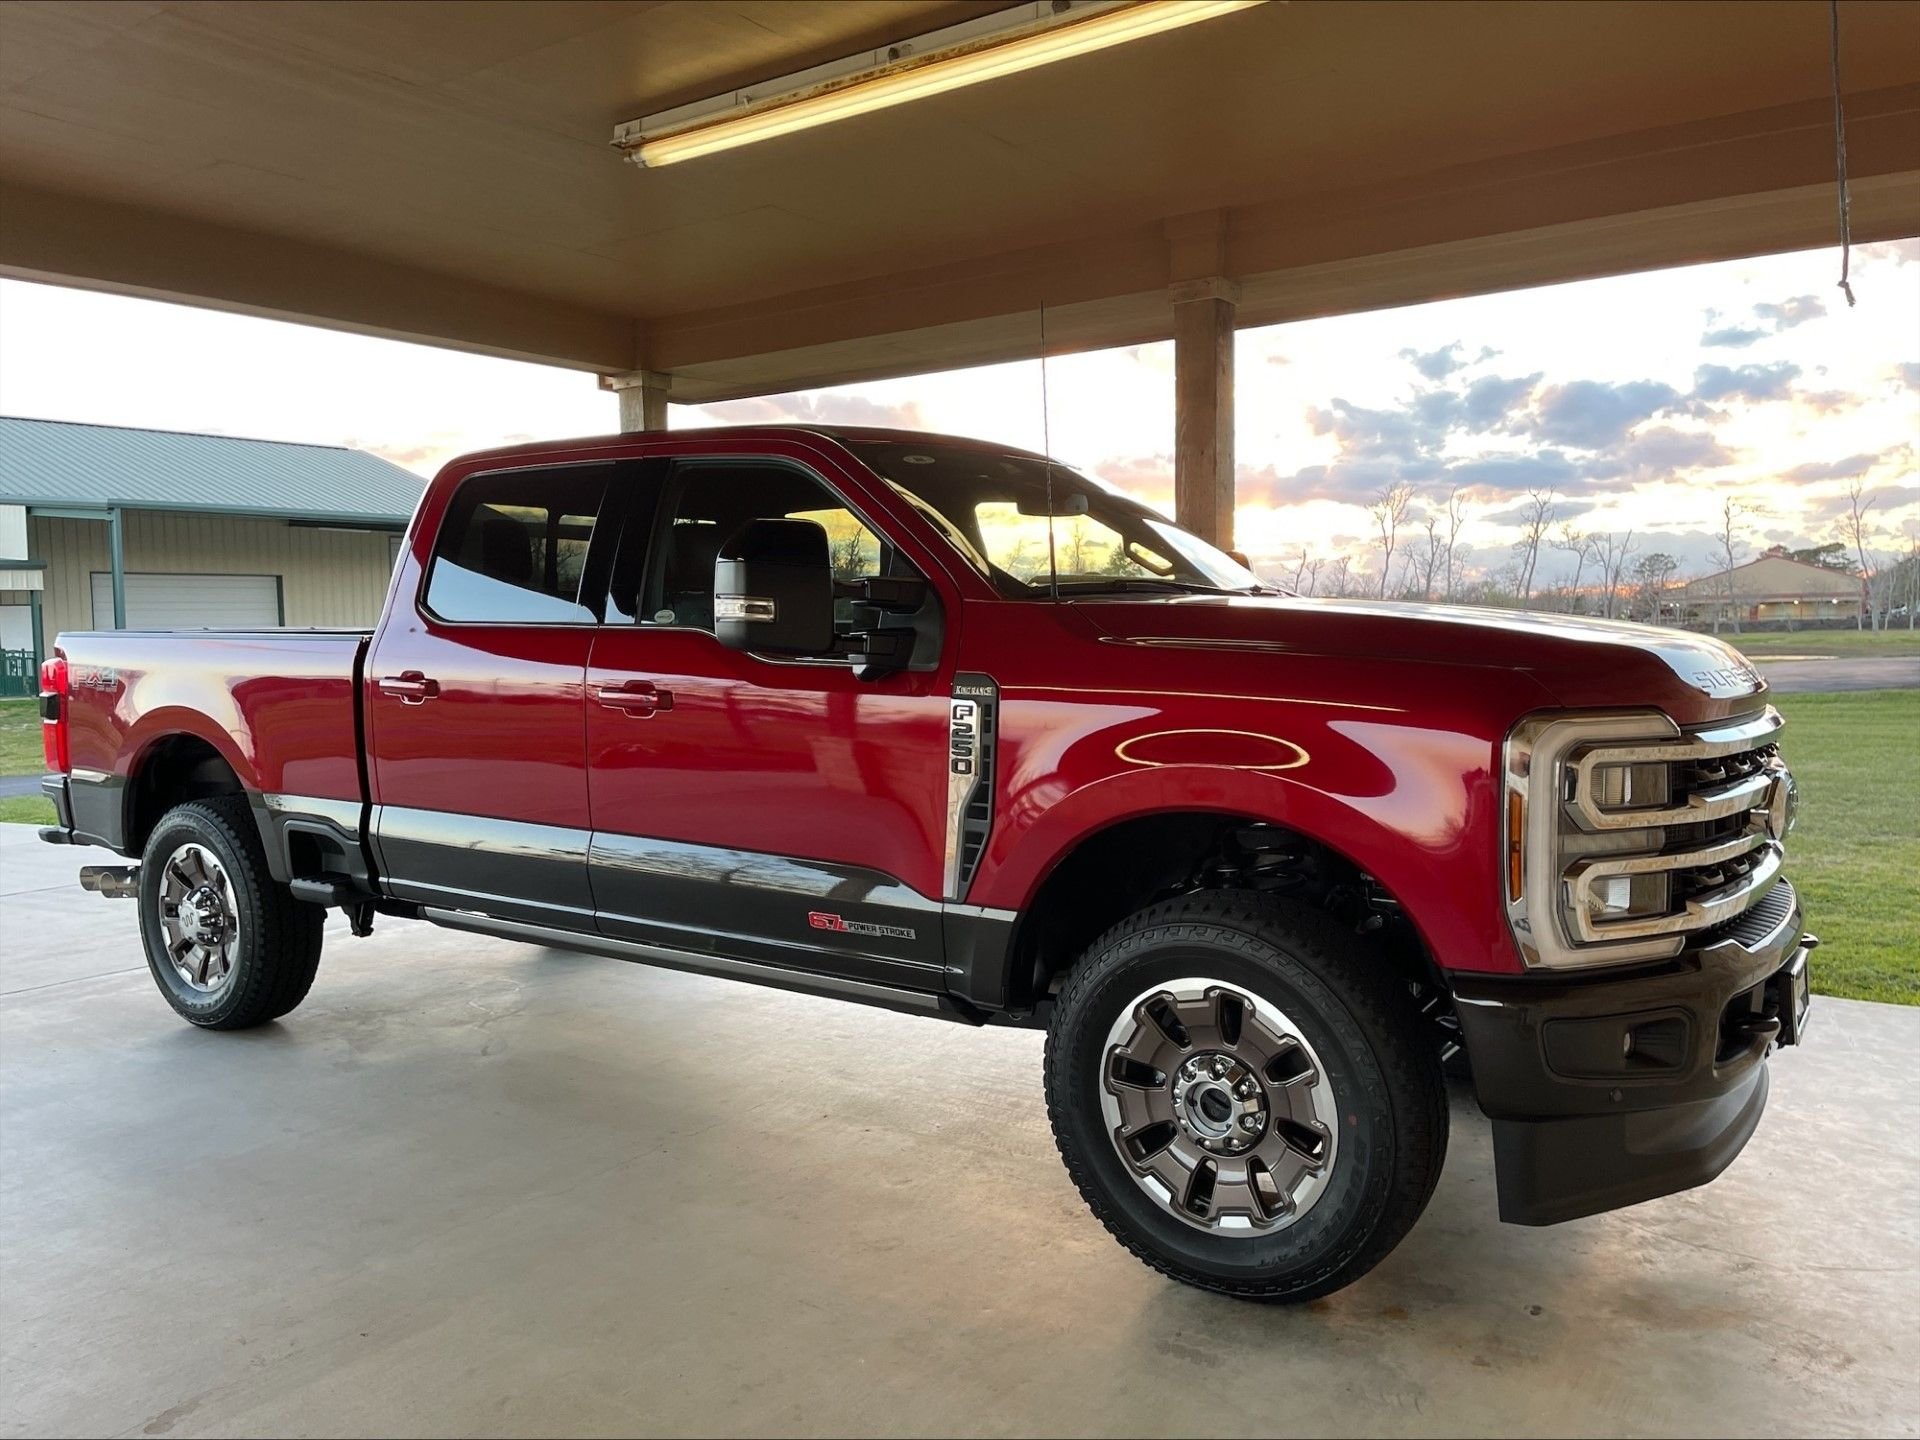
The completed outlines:
<svg viewBox="0 0 1920 1440">
<path fill-rule="evenodd" d="M 1233 549 L 1231 280 L 1173 286 L 1173 518 Z"/>
</svg>

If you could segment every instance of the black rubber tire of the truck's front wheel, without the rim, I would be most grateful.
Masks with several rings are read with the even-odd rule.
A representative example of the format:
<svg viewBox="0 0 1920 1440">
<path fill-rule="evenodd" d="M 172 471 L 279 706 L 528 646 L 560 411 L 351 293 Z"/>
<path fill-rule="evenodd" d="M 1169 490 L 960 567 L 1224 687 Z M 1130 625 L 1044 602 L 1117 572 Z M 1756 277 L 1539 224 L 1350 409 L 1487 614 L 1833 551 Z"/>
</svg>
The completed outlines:
<svg viewBox="0 0 1920 1440">
<path fill-rule="evenodd" d="M 1277 1006 L 1329 1071 L 1338 1148 L 1317 1202 L 1279 1231 L 1194 1229 L 1112 1140 L 1100 1106 L 1110 1027 L 1175 975 Z M 1448 1139 L 1440 1058 L 1407 987 L 1325 914 L 1240 891 L 1150 906 L 1087 948 L 1048 1025 L 1046 1110 L 1068 1173 L 1116 1240 L 1171 1279 L 1265 1302 L 1313 1300 L 1373 1269 L 1427 1208 Z"/>
</svg>

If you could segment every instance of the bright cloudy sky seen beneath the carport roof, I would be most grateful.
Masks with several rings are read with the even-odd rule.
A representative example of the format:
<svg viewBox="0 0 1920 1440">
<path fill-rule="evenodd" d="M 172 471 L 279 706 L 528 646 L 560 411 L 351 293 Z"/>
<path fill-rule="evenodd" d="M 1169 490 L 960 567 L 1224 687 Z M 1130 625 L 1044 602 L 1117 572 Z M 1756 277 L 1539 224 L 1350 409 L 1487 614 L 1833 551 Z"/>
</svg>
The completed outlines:
<svg viewBox="0 0 1920 1440">
<path fill-rule="evenodd" d="M 1461 486 L 1473 561 L 1498 566 L 1517 501 L 1636 530 L 1709 564 L 1724 493 L 1749 551 L 1830 540 L 1849 480 L 1884 545 L 1920 530 L 1920 240 L 1859 248 L 1847 309 L 1830 250 L 1242 330 L 1238 543 L 1284 578 L 1300 545 L 1356 557 L 1361 509 L 1404 478 Z M 674 407 L 672 424 L 820 419 L 1041 447 L 1171 509 L 1171 344 L 1039 367 Z M 156 301 L 0 282 L 0 411 L 348 444 L 430 474 L 467 449 L 614 428 L 593 376 Z M 1553 580 L 1544 563 L 1544 582 Z"/>
</svg>

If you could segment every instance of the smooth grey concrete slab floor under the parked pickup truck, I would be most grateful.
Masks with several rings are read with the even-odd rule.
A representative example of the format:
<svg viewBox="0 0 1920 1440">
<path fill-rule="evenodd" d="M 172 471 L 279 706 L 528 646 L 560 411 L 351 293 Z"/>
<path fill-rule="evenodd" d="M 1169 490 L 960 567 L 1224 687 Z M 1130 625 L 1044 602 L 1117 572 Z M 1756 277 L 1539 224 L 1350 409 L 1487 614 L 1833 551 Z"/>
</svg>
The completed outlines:
<svg viewBox="0 0 1920 1440">
<path fill-rule="evenodd" d="M 1920 1010 L 1826 1000 L 1718 1183 L 1427 1217 L 1265 1309 L 1085 1213 L 1039 1035 L 388 924 L 202 1035 L 0 826 L 4 1434 L 1914 1434 Z"/>
</svg>

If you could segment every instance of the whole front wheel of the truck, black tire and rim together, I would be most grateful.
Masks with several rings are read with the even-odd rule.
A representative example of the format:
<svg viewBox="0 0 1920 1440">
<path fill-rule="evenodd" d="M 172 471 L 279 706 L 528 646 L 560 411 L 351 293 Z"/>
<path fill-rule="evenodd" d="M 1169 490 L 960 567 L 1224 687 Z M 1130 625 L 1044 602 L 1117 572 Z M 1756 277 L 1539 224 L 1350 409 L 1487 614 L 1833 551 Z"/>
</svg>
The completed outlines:
<svg viewBox="0 0 1920 1440">
<path fill-rule="evenodd" d="M 1094 941 L 1054 1006 L 1046 1106 L 1123 1246 L 1252 1300 L 1365 1275 L 1446 1158 L 1440 1062 L 1405 987 L 1327 916 L 1233 891 Z"/>
</svg>

